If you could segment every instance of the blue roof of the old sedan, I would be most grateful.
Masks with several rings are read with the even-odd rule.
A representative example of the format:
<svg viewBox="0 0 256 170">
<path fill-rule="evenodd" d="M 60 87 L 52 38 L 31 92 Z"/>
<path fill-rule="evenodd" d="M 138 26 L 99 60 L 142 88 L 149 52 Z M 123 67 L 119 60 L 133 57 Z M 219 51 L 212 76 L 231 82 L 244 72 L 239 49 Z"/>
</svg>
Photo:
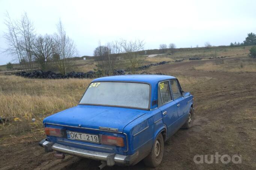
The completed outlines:
<svg viewBox="0 0 256 170">
<path fill-rule="evenodd" d="M 154 75 L 154 74 L 135 74 L 135 75 L 114 75 L 108 77 L 96 78 L 93 81 L 131 81 L 149 83 L 152 86 L 159 81 L 173 79 L 170 75 Z"/>
</svg>

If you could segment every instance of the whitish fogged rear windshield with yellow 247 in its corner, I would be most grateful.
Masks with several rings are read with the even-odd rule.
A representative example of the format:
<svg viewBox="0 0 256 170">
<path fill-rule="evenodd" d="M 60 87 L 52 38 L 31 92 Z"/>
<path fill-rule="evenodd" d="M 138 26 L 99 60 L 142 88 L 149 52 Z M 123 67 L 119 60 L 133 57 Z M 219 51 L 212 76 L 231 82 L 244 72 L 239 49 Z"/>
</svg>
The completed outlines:
<svg viewBox="0 0 256 170">
<path fill-rule="evenodd" d="M 149 108 L 150 86 L 145 83 L 94 82 L 79 104 Z"/>
</svg>

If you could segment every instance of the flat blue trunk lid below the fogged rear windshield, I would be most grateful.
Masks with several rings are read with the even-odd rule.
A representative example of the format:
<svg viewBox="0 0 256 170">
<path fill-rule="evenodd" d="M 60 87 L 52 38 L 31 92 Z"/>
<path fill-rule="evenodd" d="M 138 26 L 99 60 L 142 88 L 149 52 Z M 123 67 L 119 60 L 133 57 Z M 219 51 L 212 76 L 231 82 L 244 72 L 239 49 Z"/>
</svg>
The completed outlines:
<svg viewBox="0 0 256 170">
<path fill-rule="evenodd" d="M 61 124 L 66 126 L 116 128 L 123 132 L 124 127 L 131 121 L 145 114 L 146 110 L 119 108 L 110 106 L 78 105 L 66 109 L 44 119 L 44 123 Z"/>
</svg>

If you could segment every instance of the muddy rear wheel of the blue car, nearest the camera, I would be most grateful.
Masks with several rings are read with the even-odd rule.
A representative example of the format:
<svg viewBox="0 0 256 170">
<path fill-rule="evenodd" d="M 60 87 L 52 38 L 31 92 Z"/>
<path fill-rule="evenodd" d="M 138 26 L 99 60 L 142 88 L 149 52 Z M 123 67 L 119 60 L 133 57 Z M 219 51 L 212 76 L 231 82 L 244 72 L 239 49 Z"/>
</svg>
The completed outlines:
<svg viewBox="0 0 256 170">
<path fill-rule="evenodd" d="M 159 149 L 159 150 L 158 150 Z M 144 158 L 144 164 L 149 167 L 157 167 L 163 160 L 164 155 L 164 138 L 160 133 L 155 139 L 153 148 L 149 155 Z"/>
</svg>

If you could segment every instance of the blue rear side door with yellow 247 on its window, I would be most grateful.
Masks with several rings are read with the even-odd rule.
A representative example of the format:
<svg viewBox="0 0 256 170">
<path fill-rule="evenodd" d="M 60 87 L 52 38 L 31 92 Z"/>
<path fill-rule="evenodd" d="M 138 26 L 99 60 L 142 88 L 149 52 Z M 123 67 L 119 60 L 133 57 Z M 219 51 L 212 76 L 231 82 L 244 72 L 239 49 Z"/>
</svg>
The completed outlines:
<svg viewBox="0 0 256 170">
<path fill-rule="evenodd" d="M 172 99 L 169 80 L 158 85 L 158 108 L 162 112 L 163 122 L 167 126 L 168 136 L 175 133 L 175 122 L 178 119 L 177 105 Z"/>
</svg>

